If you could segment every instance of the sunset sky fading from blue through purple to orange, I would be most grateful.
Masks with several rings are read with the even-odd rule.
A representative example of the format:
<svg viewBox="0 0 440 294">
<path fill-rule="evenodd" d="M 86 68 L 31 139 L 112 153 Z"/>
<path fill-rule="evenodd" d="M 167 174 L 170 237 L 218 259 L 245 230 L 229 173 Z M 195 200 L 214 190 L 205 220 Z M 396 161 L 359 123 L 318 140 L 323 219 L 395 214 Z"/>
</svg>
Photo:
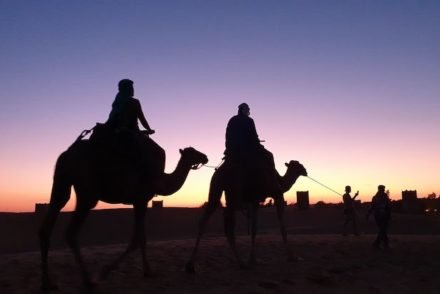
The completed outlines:
<svg viewBox="0 0 440 294">
<path fill-rule="evenodd" d="M 0 211 L 48 201 L 58 155 L 107 119 L 122 78 L 168 172 L 187 146 L 217 165 L 247 102 L 281 173 L 299 160 L 363 201 L 378 184 L 440 193 L 438 1 L 0 0 L 0 36 Z M 165 205 L 201 205 L 212 173 Z M 341 200 L 307 178 L 286 200 L 303 190 Z"/>
</svg>

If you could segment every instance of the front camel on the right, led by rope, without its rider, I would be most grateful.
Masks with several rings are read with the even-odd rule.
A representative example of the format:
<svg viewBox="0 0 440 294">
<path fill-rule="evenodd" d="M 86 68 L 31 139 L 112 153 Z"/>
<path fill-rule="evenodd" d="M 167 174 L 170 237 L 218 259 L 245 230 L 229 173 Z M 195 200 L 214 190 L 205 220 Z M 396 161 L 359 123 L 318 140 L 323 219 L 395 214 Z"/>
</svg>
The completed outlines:
<svg viewBox="0 0 440 294">
<path fill-rule="evenodd" d="M 254 201 L 250 202 L 243 199 L 245 191 L 242 183 L 243 177 L 240 175 L 239 170 L 223 164 L 219 169 L 214 172 L 209 187 L 208 204 L 206 205 L 205 211 L 199 221 L 198 234 L 194 249 L 192 251 L 189 261 L 185 266 L 186 272 L 195 273 L 195 261 L 201 237 L 205 231 L 205 227 L 209 218 L 220 206 L 220 199 L 223 191 L 225 192 L 226 198 L 226 208 L 224 210 L 225 234 L 240 268 L 247 268 L 248 266 L 253 266 L 256 263 L 255 238 L 257 233 L 257 208 L 261 199 L 265 198 L 264 196 L 271 196 L 274 199 L 277 209 L 278 221 L 280 224 L 281 236 L 287 252 L 288 259 L 291 261 L 295 260 L 295 257 L 292 255 L 287 242 L 287 231 L 284 223 L 283 214 L 285 206 L 283 193 L 287 192 L 300 176 L 307 176 L 307 171 L 301 163 L 294 160 L 290 161 L 289 163 L 285 163 L 285 166 L 287 167 L 287 171 L 284 176 L 281 176 L 277 172 L 282 192 L 272 195 L 261 195 L 263 197 L 259 198 L 259 200 L 255 199 Z M 241 208 L 245 208 L 248 213 L 251 229 L 251 252 L 247 265 L 241 261 L 235 243 L 235 211 Z"/>
</svg>

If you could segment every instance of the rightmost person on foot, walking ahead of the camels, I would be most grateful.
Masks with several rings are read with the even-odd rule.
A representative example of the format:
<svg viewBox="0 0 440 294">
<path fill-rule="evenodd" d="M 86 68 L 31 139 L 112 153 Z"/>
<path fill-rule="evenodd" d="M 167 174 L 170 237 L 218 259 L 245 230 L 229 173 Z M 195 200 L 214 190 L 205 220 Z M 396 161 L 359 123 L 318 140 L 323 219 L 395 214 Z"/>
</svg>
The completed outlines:
<svg viewBox="0 0 440 294">
<path fill-rule="evenodd" d="M 388 244 L 388 225 L 391 219 L 391 201 L 385 192 L 385 186 L 379 185 L 376 195 L 371 200 L 371 207 L 367 213 L 367 220 L 371 213 L 374 213 L 374 219 L 378 226 L 377 238 L 373 243 L 375 248 L 380 248 L 383 244 L 385 249 L 389 249 Z"/>
</svg>

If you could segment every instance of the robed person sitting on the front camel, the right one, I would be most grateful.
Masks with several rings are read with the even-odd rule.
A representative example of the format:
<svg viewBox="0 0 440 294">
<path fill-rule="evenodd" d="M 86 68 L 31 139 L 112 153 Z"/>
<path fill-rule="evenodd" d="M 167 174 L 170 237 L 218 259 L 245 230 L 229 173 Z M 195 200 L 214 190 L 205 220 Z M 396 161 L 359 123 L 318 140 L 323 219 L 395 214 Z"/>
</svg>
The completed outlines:
<svg viewBox="0 0 440 294">
<path fill-rule="evenodd" d="M 263 196 L 258 200 L 264 201 L 266 196 L 282 193 L 273 155 L 261 145 L 248 104 L 241 103 L 237 115 L 229 120 L 225 145 L 226 161 L 241 168 L 246 186 L 251 189 L 247 196 L 254 200 L 256 193 Z"/>
</svg>

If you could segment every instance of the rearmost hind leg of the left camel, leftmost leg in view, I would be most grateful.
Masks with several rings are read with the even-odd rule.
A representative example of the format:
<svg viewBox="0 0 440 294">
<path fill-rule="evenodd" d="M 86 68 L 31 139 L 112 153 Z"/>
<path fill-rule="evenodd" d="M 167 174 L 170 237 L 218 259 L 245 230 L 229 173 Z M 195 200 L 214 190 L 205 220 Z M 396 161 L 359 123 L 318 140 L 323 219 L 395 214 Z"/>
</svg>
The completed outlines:
<svg viewBox="0 0 440 294">
<path fill-rule="evenodd" d="M 55 222 L 60 214 L 61 209 L 66 205 L 70 198 L 70 185 L 55 180 L 52 186 L 51 199 L 48 211 L 40 226 L 38 235 L 40 239 L 41 253 L 41 289 L 43 291 L 56 290 L 58 287 L 53 283 L 49 275 L 48 255 L 50 249 L 50 237 L 55 226 Z"/>
</svg>

